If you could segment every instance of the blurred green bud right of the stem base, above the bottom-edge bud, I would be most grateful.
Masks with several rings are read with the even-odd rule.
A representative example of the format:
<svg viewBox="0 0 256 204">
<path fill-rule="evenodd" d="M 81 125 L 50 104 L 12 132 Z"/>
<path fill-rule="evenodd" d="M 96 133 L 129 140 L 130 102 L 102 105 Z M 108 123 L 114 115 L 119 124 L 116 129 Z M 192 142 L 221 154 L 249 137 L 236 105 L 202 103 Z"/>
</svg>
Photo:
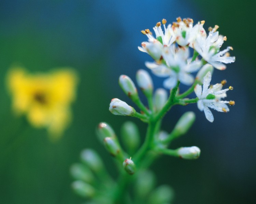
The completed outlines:
<svg viewBox="0 0 256 204">
<path fill-rule="evenodd" d="M 152 171 L 144 170 L 138 172 L 138 179 L 134 186 L 134 192 L 141 198 L 148 197 L 156 184 L 156 177 Z"/>
</svg>

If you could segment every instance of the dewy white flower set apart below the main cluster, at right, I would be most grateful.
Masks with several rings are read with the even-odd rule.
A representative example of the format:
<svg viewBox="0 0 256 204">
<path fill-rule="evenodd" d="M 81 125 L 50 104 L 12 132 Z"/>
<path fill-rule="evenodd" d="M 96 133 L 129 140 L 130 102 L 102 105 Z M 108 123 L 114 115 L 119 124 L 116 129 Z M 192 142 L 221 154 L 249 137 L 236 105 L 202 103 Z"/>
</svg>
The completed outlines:
<svg viewBox="0 0 256 204">
<path fill-rule="evenodd" d="M 228 88 L 222 90 L 222 84 L 215 84 L 208 88 L 211 78 L 211 72 L 208 72 L 203 78 L 203 90 L 202 86 L 199 84 L 196 85 L 194 90 L 199 99 L 197 102 L 198 109 L 200 111 L 204 111 L 207 120 L 213 122 L 214 118 L 209 107 L 215 109 L 216 111 L 228 112 L 229 108 L 226 103 L 230 102 L 220 100 L 221 98 L 225 98 L 227 96 L 226 92 L 229 90 Z"/>
</svg>

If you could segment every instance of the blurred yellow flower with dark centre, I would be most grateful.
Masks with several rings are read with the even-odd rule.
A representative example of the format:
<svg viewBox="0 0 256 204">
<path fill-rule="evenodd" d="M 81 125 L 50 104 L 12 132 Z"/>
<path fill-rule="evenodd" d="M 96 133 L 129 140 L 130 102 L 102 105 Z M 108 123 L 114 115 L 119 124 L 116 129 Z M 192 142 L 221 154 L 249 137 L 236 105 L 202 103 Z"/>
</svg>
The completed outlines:
<svg viewBox="0 0 256 204">
<path fill-rule="evenodd" d="M 7 83 L 16 114 L 26 114 L 36 128 L 47 128 L 52 139 L 62 136 L 71 121 L 70 103 L 75 100 L 74 70 L 61 68 L 51 73 L 29 74 L 16 67 L 9 72 Z"/>
</svg>

